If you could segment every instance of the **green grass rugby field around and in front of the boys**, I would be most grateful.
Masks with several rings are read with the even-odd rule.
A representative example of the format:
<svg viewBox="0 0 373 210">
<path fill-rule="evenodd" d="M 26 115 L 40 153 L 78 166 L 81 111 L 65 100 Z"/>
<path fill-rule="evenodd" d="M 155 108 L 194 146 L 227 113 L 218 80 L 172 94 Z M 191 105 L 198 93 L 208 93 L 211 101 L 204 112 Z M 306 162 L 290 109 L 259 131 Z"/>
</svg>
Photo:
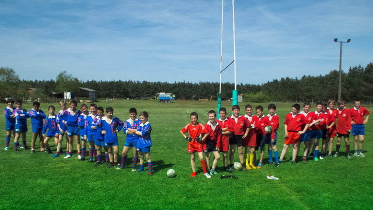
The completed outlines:
<svg viewBox="0 0 373 210">
<path fill-rule="evenodd" d="M 154 175 L 131 172 L 132 158 L 127 161 L 128 168 L 114 170 L 104 164 L 95 167 L 93 163 L 78 161 L 76 153 L 69 159 L 52 159 L 51 155 L 39 151 L 38 144 L 34 154 L 30 154 L 30 150 L 15 152 L 12 141 L 9 150 L 5 151 L 5 120 L 1 118 L 0 209 L 373 209 L 371 122 L 366 126 L 365 158 L 348 160 L 344 156 L 328 157 L 318 162 L 299 162 L 296 165 L 285 161 L 278 168 L 265 165 L 260 170 L 235 171 L 233 175 L 238 179 L 220 179 L 220 175 L 228 174 L 222 172 L 220 160 L 217 168 L 219 174 L 207 179 L 203 176 L 199 161 L 196 161 L 198 175 L 193 178 L 189 176 L 191 169 L 190 155 L 186 152 L 187 141 L 179 131 L 190 122 L 189 113 L 192 111 L 199 113 L 200 123 L 206 123 L 207 112 L 216 109 L 216 102 L 123 100 L 97 104 L 104 108 L 113 106 L 114 115 L 123 121 L 128 119 L 130 107 L 136 107 L 138 112 L 149 112 L 153 128 L 151 156 Z M 239 105 L 244 107 L 245 103 Z M 268 104 L 262 105 L 266 107 Z M 23 106 L 28 110 L 31 108 L 31 104 Z M 42 104 L 41 109 L 47 112 L 48 106 Z M 57 104 L 54 106 L 58 107 Z M 231 102 L 224 101 L 222 106 L 229 110 Z M 373 111 L 372 107 L 368 109 Z M 284 142 L 282 123 L 290 110 L 290 104 L 277 104 L 280 117 L 277 140 L 279 153 Z M 29 146 L 30 120 L 28 125 Z M 125 139 L 122 132 L 119 139 L 121 151 Z M 52 141 L 52 150 L 55 150 Z M 353 150 L 352 137 L 350 142 Z M 344 143 L 341 151 L 344 151 Z M 288 151 L 288 159 L 290 154 L 291 149 Z M 129 157 L 132 157 L 132 152 Z M 176 170 L 176 177 L 166 176 L 170 168 Z M 280 180 L 269 180 L 267 175 L 275 175 Z"/>
</svg>

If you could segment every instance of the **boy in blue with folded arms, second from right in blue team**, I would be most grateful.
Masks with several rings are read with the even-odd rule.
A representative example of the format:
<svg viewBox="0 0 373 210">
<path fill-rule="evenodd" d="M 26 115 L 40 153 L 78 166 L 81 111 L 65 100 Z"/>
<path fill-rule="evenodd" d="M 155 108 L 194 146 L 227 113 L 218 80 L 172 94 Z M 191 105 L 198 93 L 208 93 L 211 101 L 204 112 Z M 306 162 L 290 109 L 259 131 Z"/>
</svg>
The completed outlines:
<svg viewBox="0 0 373 210">
<path fill-rule="evenodd" d="M 123 151 L 122 151 L 122 157 L 120 161 L 120 168 L 123 169 L 126 165 L 126 159 L 127 159 L 127 153 L 132 147 L 133 153 L 134 153 L 134 161 L 132 164 L 132 171 L 136 171 L 136 165 L 137 165 L 137 160 L 138 160 L 138 154 L 137 154 L 137 140 L 138 136 L 136 135 L 136 132 L 133 132 L 128 130 L 128 128 L 137 130 L 139 125 L 141 124 L 141 121 L 137 119 L 137 110 L 136 108 L 130 108 L 130 119 L 128 119 L 126 122 L 124 122 L 123 126 L 123 133 L 127 134 L 126 141 L 123 146 Z"/>
</svg>

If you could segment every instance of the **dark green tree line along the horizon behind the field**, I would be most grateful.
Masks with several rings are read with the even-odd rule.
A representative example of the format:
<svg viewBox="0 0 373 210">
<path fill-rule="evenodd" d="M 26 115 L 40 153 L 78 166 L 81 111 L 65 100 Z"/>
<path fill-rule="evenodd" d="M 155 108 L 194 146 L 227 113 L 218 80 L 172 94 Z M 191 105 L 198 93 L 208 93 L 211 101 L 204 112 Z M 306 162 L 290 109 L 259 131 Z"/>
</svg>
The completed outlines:
<svg viewBox="0 0 373 210">
<path fill-rule="evenodd" d="M 338 91 L 339 71 L 332 70 L 326 75 L 303 76 L 301 78 L 281 78 L 268 81 L 262 85 L 237 84 L 239 93 L 244 93 L 244 101 L 250 102 L 302 102 L 325 101 L 336 99 Z M 36 88 L 33 93 L 38 98 L 48 97 L 51 92 L 74 92 L 79 87 L 99 91 L 100 98 L 130 98 L 140 99 L 153 97 L 155 93 L 173 93 L 176 99 L 186 100 L 216 100 L 219 92 L 217 82 L 148 82 L 148 81 L 81 81 L 68 74 L 60 72 L 55 80 L 20 80 L 16 72 L 10 68 L 0 68 L 0 99 L 31 97 L 26 88 Z M 233 83 L 223 83 L 222 99 L 232 97 Z M 346 101 L 361 99 L 371 102 L 373 95 L 373 64 L 365 68 L 351 67 L 348 72 L 342 72 L 342 98 Z"/>
</svg>

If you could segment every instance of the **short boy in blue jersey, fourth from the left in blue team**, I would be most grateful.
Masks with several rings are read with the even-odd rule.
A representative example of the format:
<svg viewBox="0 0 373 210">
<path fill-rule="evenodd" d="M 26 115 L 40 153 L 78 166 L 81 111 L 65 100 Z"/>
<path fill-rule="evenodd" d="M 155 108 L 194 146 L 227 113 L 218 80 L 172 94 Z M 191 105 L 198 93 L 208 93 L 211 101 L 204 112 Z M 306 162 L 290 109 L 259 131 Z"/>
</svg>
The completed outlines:
<svg viewBox="0 0 373 210">
<path fill-rule="evenodd" d="M 43 137 L 44 145 L 47 148 L 49 154 L 52 154 L 51 147 L 49 146 L 49 140 L 54 138 L 54 143 L 57 146 L 58 144 L 58 130 L 57 130 L 57 116 L 54 114 L 55 108 L 50 105 L 48 107 L 49 116 L 45 119 L 43 125 Z M 47 133 L 48 130 L 48 133 Z"/>
</svg>

